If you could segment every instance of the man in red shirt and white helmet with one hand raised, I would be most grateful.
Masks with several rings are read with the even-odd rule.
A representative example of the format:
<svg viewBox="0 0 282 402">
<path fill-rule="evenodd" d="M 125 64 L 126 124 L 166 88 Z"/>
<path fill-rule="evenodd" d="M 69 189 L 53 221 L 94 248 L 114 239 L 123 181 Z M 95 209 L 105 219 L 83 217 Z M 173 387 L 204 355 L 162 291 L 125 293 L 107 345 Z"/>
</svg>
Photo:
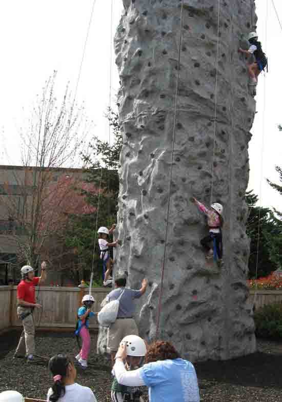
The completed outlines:
<svg viewBox="0 0 282 402">
<path fill-rule="evenodd" d="M 41 277 L 34 277 L 34 270 L 30 265 L 24 265 L 21 269 L 22 281 L 17 285 L 17 316 L 23 322 L 24 331 L 19 339 L 15 357 L 24 357 L 32 361 L 35 352 L 33 322 L 33 310 L 41 309 L 41 305 L 35 301 L 35 286 L 46 279 L 46 262 L 41 264 Z"/>
</svg>

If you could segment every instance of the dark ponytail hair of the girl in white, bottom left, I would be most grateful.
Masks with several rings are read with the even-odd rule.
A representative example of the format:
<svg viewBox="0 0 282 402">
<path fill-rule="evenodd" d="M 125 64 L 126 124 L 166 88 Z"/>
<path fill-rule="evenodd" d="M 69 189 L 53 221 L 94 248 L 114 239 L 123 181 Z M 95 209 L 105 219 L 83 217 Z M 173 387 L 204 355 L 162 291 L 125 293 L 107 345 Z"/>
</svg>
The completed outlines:
<svg viewBox="0 0 282 402">
<path fill-rule="evenodd" d="M 62 379 L 67 375 L 67 369 L 69 363 L 71 363 L 71 359 L 64 354 L 59 354 L 51 357 L 49 360 L 49 370 L 55 375 L 61 375 Z M 61 380 L 55 381 L 52 385 L 52 395 L 50 395 L 49 400 L 50 402 L 56 402 L 59 398 L 65 395 L 66 388 Z"/>
</svg>

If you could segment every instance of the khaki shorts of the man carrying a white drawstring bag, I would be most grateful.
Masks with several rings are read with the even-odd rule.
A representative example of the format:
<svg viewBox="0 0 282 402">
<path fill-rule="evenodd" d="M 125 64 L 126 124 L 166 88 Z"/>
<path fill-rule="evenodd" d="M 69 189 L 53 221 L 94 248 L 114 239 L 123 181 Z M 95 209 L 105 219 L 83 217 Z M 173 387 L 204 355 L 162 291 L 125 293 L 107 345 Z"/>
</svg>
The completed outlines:
<svg viewBox="0 0 282 402">
<path fill-rule="evenodd" d="M 108 329 L 107 349 L 110 352 L 116 352 L 119 343 L 127 335 L 139 335 L 135 320 L 133 318 L 117 318 Z"/>
</svg>

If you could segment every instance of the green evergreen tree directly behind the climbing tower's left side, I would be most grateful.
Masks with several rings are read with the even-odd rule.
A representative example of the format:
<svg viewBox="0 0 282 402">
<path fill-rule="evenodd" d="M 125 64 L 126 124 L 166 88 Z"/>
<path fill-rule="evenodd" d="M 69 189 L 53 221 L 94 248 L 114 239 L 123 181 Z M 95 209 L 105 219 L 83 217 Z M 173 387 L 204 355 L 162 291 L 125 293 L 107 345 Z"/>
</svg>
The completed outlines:
<svg viewBox="0 0 282 402">
<path fill-rule="evenodd" d="M 86 278 L 89 279 L 92 264 L 94 263 L 94 278 L 98 284 L 102 283 L 102 263 L 99 261 L 98 237 L 96 236 L 95 254 L 93 258 L 96 219 L 97 227 L 110 227 L 116 222 L 116 207 L 118 197 L 118 164 L 122 148 L 122 135 L 118 115 L 108 110 L 106 115 L 112 127 L 114 141 L 109 144 L 94 136 L 89 143 L 88 154 L 82 154 L 87 166 L 88 177 L 86 182 L 94 184 L 97 192 L 83 191 L 87 203 L 95 208 L 95 212 L 87 215 L 71 217 L 71 224 L 66 237 L 66 244 L 77 248 L 78 260 L 87 268 Z M 97 209 L 99 204 L 99 209 Z"/>
</svg>

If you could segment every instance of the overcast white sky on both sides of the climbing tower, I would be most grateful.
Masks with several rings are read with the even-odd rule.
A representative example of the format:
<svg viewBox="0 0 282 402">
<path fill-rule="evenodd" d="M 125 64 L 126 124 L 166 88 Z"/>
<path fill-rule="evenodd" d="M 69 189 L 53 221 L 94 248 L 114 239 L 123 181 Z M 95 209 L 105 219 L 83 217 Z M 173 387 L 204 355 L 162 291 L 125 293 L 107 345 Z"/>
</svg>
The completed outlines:
<svg viewBox="0 0 282 402">
<path fill-rule="evenodd" d="M 266 43 L 266 6 L 268 7 Z M 282 2 L 276 0 L 282 19 Z M 282 210 L 282 197 L 265 181 L 277 180 L 274 167 L 282 165 L 282 123 L 280 97 L 282 32 L 270 0 L 256 0 L 258 34 L 269 58 L 270 72 L 266 83 L 265 141 L 261 202 Z M 68 81 L 74 89 L 88 27 L 92 0 L 9 0 L 0 2 L 0 35 L 2 38 L 0 74 L 0 164 L 20 164 L 19 137 L 21 126 L 36 94 L 53 70 L 58 70 L 58 92 Z M 122 0 L 114 0 L 113 35 L 122 13 Z M 109 104 L 111 1 L 96 0 L 94 17 L 79 82 L 77 100 L 85 101 L 88 115 L 94 120 L 94 133 L 108 138 L 108 123 L 103 117 Z M 277 47 L 278 44 L 278 47 Z M 261 177 L 261 143 L 263 136 L 264 76 L 258 85 L 257 114 L 250 143 L 250 183 L 258 194 Z M 118 89 L 118 76 L 112 60 L 112 101 Z M 24 108 L 24 111 L 23 111 Z M 7 152 L 4 149 L 7 149 Z M 7 157 L 7 154 L 9 158 Z"/>
</svg>

